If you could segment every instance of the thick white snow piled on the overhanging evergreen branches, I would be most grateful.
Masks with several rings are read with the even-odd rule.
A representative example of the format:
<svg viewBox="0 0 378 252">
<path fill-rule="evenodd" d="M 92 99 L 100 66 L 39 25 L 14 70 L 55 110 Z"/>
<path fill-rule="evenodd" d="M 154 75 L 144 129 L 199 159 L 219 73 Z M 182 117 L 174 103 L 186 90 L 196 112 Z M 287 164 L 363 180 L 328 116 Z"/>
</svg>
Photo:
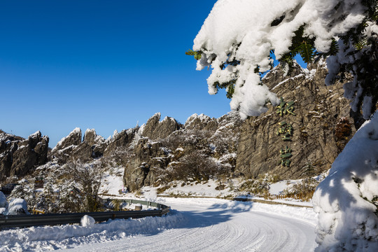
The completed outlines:
<svg viewBox="0 0 378 252">
<path fill-rule="evenodd" d="M 260 72 L 270 69 L 271 50 L 280 59 L 289 51 L 294 31 L 306 24 L 304 34 L 315 36 L 316 50 L 327 52 L 332 38 L 359 25 L 364 12 L 362 3 L 353 0 L 218 0 L 194 40 L 193 50 L 202 51 L 197 70 L 211 66 L 209 94 L 218 92 L 216 83 L 237 79 L 231 109 L 239 109 L 241 118 L 258 116 L 267 111 L 267 101 L 279 102 L 253 71 L 257 66 Z M 280 17 L 282 22 L 272 26 Z M 372 34 L 377 25 L 369 25 L 366 32 Z M 226 60 L 234 59 L 240 64 L 221 68 Z"/>
</svg>

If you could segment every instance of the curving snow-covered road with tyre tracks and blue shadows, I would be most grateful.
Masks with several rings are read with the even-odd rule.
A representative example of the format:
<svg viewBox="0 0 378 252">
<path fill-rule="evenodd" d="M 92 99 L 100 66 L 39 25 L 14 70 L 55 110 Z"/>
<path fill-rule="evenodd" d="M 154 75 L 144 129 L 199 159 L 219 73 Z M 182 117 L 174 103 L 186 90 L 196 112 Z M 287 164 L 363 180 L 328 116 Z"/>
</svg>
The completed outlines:
<svg viewBox="0 0 378 252">
<path fill-rule="evenodd" d="M 308 252 L 316 246 L 311 209 L 215 199 L 162 200 L 182 217 L 174 228 L 76 245 L 67 251 Z"/>
</svg>

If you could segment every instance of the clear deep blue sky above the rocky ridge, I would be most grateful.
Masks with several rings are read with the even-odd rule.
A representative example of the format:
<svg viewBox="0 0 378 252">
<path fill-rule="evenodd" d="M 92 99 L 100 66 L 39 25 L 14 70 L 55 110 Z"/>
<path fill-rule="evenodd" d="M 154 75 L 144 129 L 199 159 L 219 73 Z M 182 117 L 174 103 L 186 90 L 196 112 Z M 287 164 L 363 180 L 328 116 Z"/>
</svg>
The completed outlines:
<svg viewBox="0 0 378 252">
<path fill-rule="evenodd" d="M 185 55 L 216 0 L 1 1 L 0 129 L 109 137 L 156 112 L 185 123 L 230 111 Z"/>
</svg>

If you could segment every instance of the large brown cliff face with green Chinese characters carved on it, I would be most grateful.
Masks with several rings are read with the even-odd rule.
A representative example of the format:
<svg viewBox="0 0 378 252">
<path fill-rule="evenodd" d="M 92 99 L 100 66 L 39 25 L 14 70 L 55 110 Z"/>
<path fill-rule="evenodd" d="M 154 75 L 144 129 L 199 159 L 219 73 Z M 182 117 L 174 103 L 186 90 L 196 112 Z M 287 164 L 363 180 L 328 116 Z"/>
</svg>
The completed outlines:
<svg viewBox="0 0 378 252">
<path fill-rule="evenodd" d="M 251 117 L 241 126 L 237 172 L 253 178 L 267 172 L 298 179 L 330 169 L 356 129 L 342 83 L 325 86 L 323 62 L 309 70 L 295 66 L 283 78 L 280 66 L 263 82 L 282 97 L 281 106 Z M 287 146 L 287 148 L 286 148 Z"/>
</svg>

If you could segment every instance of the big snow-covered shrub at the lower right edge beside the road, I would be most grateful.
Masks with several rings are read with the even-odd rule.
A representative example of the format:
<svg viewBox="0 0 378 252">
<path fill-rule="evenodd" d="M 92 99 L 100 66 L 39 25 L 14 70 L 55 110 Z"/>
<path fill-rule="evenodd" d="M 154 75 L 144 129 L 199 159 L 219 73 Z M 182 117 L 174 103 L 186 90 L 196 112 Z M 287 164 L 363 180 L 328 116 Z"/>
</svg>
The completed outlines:
<svg viewBox="0 0 378 252">
<path fill-rule="evenodd" d="M 378 251 L 377 198 L 375 113 L 346 144 L 314 193 L 319 214 L 316 251 Z"/>
</svg>

